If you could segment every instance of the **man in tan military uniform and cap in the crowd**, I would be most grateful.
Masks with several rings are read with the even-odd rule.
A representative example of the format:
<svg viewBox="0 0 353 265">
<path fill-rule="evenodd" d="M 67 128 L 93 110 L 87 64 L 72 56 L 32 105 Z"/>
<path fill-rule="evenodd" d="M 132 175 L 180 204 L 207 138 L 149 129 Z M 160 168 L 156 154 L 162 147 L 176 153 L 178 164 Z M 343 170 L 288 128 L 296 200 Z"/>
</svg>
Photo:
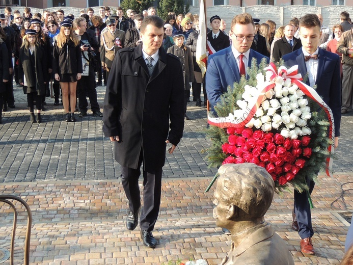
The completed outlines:
<svg viewBox="0 0 353 265">
<path fill-rule="evenodd" d="M 100 35 L 100 61 L 108 80 L 114 57 L 124 47 L 125 32 L 117 29 L 115 18 L 108 17 L 105 23 L 108 30 Z"/>
</svg>

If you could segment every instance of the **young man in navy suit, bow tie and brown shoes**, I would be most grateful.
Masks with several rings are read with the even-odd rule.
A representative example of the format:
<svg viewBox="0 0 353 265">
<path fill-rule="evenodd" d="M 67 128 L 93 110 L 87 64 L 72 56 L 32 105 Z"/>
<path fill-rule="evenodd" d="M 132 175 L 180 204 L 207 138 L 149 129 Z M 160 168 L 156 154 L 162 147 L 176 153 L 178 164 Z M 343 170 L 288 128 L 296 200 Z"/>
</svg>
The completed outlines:
<svg viewBox="0 0 353 265">
<path fill-rule="evenodd" d="M 316 14 L 303 16 L 299 23 L 300 37 L 303 47 L 283 56 L 287 66 L 298 65 L 298 72 L 305 76 L 308 73 L 307 85 L 317 86 L 316 92 L 332 110 L 335 121 L 335 147 L 338 146 L 341 122 L 341 81 L 339 56 L 318 47 L 320 42 L 320 21 Z M 307 180 L 309 192 L 314 189 L 315 182 Z M 294 190 L 294 213 L 292 228 L 301 236 L 301 251 L 314 255 L 311 241 L 313 227 L 311 212 L 306 192 Z"/>
</svg>

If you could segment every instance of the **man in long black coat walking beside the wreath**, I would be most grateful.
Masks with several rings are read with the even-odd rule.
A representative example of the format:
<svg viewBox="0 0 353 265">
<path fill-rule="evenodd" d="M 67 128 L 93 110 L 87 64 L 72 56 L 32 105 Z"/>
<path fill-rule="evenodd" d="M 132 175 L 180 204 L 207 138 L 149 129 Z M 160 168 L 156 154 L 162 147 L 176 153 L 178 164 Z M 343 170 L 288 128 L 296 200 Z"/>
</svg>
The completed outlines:
<svg viewBox="0 0 353 265">
<path fill-rule="evenodd" d="M 139 177 L 143 163 L 144 196 L 141 239 L 154 248 L 152 235 L 158 217 L 162 167 L 166 146 L 173 153 L 184 128 L 184 82 L 177 57 L 162 45 L 164 22 L 147 16 L 141 24 L 142 44 L 120 49 L 106 87 L 103 132 L 115 142 L 122 184 L 129 201 L 126 227 L 135 229 L 141 208 Z M 169 123 L 170 120 L 170 123 Z"/>
</svg>

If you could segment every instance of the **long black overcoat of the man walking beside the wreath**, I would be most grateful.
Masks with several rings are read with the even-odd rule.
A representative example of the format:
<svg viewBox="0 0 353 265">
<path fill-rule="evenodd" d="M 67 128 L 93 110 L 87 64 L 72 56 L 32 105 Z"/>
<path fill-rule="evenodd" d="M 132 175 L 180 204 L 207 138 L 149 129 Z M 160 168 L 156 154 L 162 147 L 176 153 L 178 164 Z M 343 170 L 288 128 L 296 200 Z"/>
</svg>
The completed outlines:
<svg viewBox="0 0 353 265">
<path fill-rule="evenodd" d="M 169 123 L 170 121 L 170 123 Z M 141 148 L 144 170 L 164 166 L 166 140 L 177 145 L 184 128 L 184 82 L 179 59 L 159 48 L 159 59 L 149 75 L 142 44 L 115 56 L 106 86 L 103 132 L 119 136 L 115 159 L 138 168 Z"/>
</svg>

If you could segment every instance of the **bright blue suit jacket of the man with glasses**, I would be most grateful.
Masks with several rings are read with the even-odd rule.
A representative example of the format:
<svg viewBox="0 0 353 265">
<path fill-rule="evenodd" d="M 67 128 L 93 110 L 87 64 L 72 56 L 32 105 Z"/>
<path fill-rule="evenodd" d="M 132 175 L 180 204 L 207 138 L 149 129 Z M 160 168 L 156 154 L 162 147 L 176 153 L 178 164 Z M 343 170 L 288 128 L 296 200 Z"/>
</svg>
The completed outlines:
<svg viewBox="0 0 353 265">
<path fill-rule="evenodd" d="M 252 58 L 256 58 L 259 65 L 262 58 L 269 58 L 250 49 L 248 67 L 251 66 Z M 247 76 L 248 78 L 248 76 Z M 221 99 L 221 95 L 227 92 L 227 87 L 233 87 L 234 82 L 240 81 L 239 68 L 232 52 L 232 47 L 228 47 L 208 57 L 206 71 L 206 91 L 207 98 L 212 106 Z"/>
</svg>

